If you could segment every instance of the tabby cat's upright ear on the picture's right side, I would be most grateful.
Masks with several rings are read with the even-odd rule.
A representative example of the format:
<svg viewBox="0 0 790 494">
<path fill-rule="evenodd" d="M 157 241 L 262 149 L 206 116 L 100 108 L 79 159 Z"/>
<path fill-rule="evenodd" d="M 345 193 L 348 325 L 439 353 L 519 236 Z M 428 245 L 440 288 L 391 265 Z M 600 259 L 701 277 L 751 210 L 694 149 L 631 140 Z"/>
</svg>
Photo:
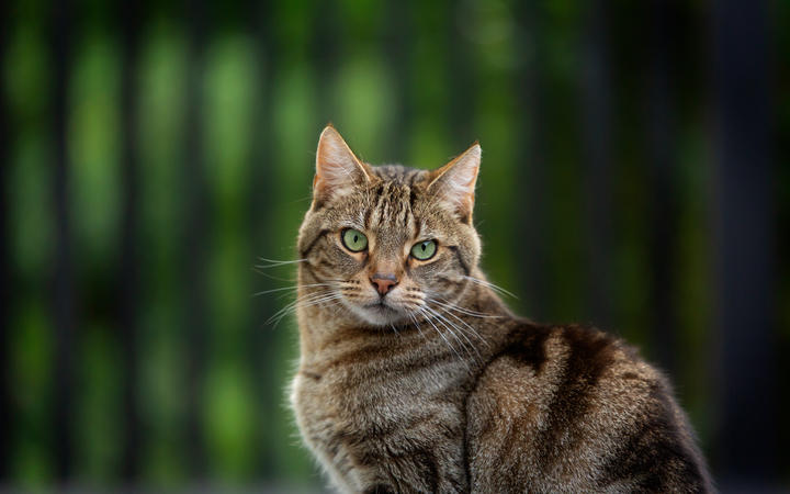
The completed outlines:
<svg viewBox="0 0 790 494">
<path fill-rule="evenodd" d="M 464 223 L 472 223 L 474 186 L 479 170 L 481 147 L 474 143 L 458 158 L 430 175 L 428 190 L 439 203 L 455 213 Z"/>
</svg>

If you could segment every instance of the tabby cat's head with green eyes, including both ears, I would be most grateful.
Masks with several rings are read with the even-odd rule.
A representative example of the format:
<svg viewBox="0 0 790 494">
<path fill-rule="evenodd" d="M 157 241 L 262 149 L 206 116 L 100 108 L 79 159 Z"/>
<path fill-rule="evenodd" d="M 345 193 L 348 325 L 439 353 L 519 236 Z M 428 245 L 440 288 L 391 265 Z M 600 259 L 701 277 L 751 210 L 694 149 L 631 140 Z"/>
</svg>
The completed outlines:
<svg viewBox="0 0 790 494">
<path fill-rule="evenodd" d="M 472 224 L 479 160 L 474 144 L 436 170 L 372 167 L 327 126 L 300 228 L 304 288 L 375 326 L 444 312 L 479 257 Z"/>
</svg>

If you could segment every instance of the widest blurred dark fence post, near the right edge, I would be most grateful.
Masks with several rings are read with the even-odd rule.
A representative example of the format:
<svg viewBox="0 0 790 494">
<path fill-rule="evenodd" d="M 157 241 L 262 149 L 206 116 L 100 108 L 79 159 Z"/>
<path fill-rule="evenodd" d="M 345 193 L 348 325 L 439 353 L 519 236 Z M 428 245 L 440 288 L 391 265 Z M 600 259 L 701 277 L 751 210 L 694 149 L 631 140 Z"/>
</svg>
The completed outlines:
<svg viewBox="0 0 790 494">
<path fill-rule="evenodd" d="M 778 425 L 767 5 L 713 9 L 716 454 L 729 474 L 760 480 L 776 474 Z"/>
</svg>

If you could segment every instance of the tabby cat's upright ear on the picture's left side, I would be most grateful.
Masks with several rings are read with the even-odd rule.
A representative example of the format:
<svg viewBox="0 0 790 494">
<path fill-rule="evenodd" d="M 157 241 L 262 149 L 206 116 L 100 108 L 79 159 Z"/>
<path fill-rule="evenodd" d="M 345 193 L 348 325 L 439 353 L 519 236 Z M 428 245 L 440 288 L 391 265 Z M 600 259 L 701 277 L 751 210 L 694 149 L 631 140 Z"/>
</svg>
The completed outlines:
<svg viewBox="0 0 790 494">
<path fill-rule="evenodd" d="M 327 125 L 318 138 L 316 175 L 313 179 L 314 209 L 370 182 L 371 177 L 370 167 L 354 156 L 335 127 Z"/>
</svg>

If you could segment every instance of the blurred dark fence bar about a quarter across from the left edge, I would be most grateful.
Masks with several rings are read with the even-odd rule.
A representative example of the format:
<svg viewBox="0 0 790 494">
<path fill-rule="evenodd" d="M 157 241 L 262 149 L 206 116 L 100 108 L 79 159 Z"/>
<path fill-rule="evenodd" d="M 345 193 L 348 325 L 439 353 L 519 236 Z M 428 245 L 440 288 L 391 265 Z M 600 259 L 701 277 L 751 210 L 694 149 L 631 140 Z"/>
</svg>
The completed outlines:
<svg viewBox="0 0 790 494">
<path fill-rule="evenodd" d="M 189 22 L 189 55 L 187 77 L 187 133 L 183 164 L 183 203 L 185 232 L 181 254 L 182 279 L 185 293 L 184 345 L 188 352 L 187 389 L 187 457 L 194 478 L 206 475 L 205 441 L 203 437 L 203 391 L 206 359 L 206 186 L 203 159 L 202 81 L 205 46 L 205 4 L 188 1 L 184 11 Z"/>
</svg>

